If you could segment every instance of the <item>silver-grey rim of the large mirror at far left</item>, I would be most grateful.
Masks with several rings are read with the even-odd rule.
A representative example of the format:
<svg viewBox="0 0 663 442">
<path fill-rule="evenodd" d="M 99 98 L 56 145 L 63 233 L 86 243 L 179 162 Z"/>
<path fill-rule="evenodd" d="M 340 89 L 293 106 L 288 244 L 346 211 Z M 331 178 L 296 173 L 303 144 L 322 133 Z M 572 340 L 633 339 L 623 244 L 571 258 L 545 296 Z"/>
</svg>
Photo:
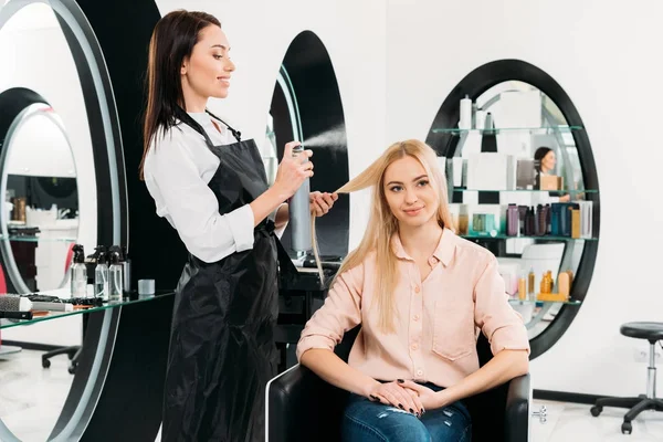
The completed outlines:
<svg viewBox="0 0 663 442">
<path fill-rule="evenodd" d="M 12 0 L 0 9 L 0 29 L 21 9 L 33 3 L 52 8 L 72 51 L 81 81 L 92 140 L 97 198 L 97 243 L 128 244 L 128 210 L 122 139 L 110 78 L 96 36 L 74 0 Z M 36 98 L 32 96 L 32 98 Z M 20 113 L 0 106 L 0 148 L 9 126 Z M 98 320 L 97 320 L 98 319 Z M 81 439 L 101 398 L 119 323 L 119 308 L 91 318 L 83 356 L 72 388 L 49 440 Z M 86 360 L 90 359 L 90 362 Z M 19 439 L 0 420 L 0 440 Z"/>
</svg>

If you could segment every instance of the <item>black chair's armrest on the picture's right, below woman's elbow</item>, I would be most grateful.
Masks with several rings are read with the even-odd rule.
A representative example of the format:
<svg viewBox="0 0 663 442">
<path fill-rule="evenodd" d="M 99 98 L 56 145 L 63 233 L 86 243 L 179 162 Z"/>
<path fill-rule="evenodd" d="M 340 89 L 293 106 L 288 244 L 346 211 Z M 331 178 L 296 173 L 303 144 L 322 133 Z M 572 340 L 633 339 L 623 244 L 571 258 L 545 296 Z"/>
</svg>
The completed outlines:
<svg viewBox="0 0 663 442">
<path fill-rule="evenodd" d="M 504 432 L 507 442 L 527 442 L 529 434 L 529 373 L 508 382 Z"/>
</svg>

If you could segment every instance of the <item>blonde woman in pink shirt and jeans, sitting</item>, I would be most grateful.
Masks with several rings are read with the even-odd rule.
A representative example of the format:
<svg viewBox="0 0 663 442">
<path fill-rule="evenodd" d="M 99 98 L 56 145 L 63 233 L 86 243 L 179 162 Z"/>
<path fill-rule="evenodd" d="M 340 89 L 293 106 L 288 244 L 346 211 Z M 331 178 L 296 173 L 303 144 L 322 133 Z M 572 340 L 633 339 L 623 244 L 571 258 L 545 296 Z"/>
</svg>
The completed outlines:
<svg viewBox="0 0 663 442">
<path fill-rule="evenodd" d="M 306 324 L 297 358 L 351 392 L 344 441 L 470 441 L 461 400 L 528 371 L 523 319 L 495 256 L 454 234 L 433 149 L 397 143 L 339 191 L 371 186 L 368 230 Z M 334 348 L 359 324 L 346 364 Z M 494 355 L 482 368 L 478 330 Z"/>
</svg>

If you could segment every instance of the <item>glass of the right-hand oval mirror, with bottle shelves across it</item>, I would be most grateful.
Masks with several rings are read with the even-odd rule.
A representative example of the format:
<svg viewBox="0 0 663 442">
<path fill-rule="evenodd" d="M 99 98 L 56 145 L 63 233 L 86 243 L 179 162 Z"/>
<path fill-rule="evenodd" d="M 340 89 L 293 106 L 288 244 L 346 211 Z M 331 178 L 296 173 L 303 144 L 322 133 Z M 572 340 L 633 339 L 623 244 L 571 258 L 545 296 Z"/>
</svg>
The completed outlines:
<svg viewBox="0 0 663 442">
<path fill-rule="evenodd" d="M 497 256 L 512 305 L 533 338 L 564 305 L 540 302 L 546 274 L 554 282 L 550 293 L 558 292 L 558 276 L 577 274 L 585 242 L 593 240 L 591 202 L 583 200 L 597 190 L 585 189 L 573 138 L 581 128 L 569 126 L 545 93 L 518 81 L 499 83 L 460 106 L 453 129 L 460 138 L 454 158 L 446 160 L 456 225 Z"/>
</svg>

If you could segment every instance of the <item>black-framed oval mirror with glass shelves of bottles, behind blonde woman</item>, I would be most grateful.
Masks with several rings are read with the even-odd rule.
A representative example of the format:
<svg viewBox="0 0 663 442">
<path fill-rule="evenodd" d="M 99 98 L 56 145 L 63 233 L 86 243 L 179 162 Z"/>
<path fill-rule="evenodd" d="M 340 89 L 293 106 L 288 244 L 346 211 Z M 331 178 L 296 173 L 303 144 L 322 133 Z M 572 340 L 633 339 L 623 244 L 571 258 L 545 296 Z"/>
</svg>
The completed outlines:
<svg viewBox="0 0 663 442">
<path fill-rule="evenodd" d="M 580 308 L 598 250 L 598 178 L 578 112 L 545 72 L 503 60 L 461 81 L 427 141 L 457 233 L 495 254 L 540 355 Z"/>
</svg>

